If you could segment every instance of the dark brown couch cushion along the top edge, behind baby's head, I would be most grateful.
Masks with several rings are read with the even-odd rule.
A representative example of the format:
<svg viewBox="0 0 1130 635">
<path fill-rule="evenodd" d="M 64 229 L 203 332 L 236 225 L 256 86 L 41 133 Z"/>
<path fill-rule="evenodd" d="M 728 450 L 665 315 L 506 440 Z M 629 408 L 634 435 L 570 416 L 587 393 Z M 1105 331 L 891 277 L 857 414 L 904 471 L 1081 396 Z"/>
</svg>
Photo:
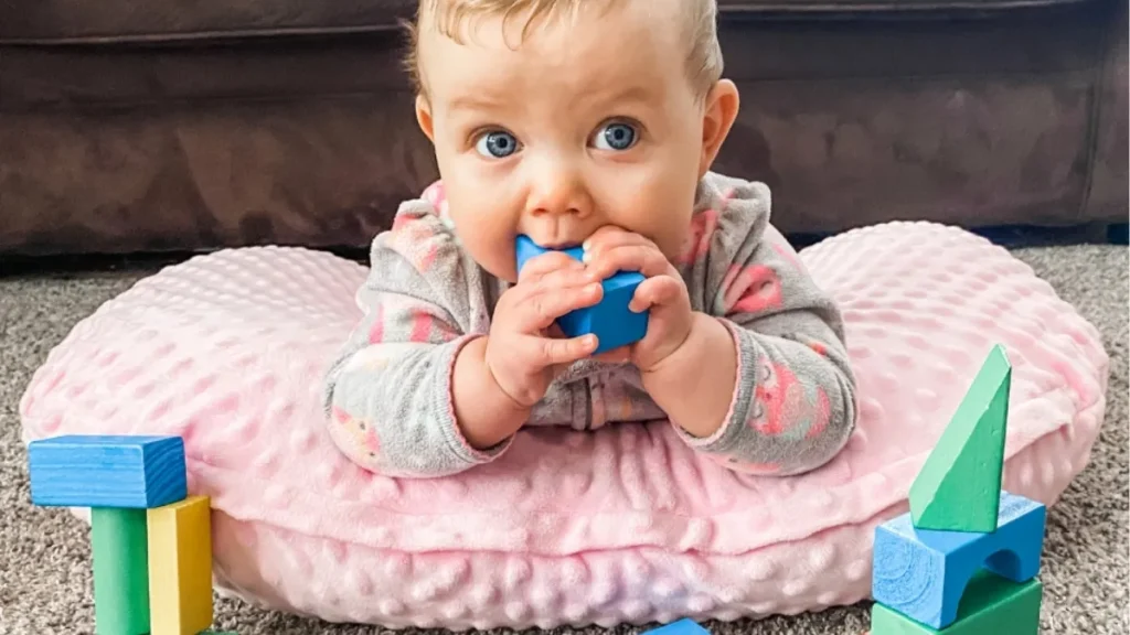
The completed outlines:
<svg viewBox="0 0 1130 635">
<path fill-rule="evenodd" d="M 1094 0 L 719 0 L 723 15 L 954 11 L 1066 5 Z M 0 2 L 0 44 L 168 42 L 392 31 L 415 0 L 14 0 Z"/>
</svg>

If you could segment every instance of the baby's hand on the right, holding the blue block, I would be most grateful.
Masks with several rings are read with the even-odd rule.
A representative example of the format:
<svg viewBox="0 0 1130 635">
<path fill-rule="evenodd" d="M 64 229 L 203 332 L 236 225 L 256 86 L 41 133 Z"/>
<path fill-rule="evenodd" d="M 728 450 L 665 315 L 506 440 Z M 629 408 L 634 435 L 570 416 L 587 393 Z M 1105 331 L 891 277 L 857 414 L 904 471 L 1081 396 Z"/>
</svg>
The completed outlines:
<svg viewBox="0 0 1130 635">
<path fill-rule="evenodd" d="M 638 271 L 646 278 L 636 287 L 628 308 L 651 311 L 647 333 L 634 345 L 599 355 L 599 359 L 629 359 L 647 373 L 683 346 L 694 323 L 690 297 L 683 277 L 655 243 L 618 227 L 601 227 L 584 243 L 584 262 L 598 280 L 617 271 Z"/>
</svg>

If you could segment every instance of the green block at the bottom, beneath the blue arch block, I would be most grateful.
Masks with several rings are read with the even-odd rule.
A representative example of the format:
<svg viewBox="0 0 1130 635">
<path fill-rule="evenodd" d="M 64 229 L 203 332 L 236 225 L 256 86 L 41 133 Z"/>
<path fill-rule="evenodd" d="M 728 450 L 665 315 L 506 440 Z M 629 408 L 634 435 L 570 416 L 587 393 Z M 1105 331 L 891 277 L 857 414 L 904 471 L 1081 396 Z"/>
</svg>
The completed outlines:
<svg viewBox="0 0 1130 635">
<path fill-rule="evenodd" d="M 938 630 L 876 602 L 871 635 L 1036 635 L 1042 595 L 1038 580 L 1017 584 L 982 571 L 970 581 L 954 624 Z"/>
</svg>

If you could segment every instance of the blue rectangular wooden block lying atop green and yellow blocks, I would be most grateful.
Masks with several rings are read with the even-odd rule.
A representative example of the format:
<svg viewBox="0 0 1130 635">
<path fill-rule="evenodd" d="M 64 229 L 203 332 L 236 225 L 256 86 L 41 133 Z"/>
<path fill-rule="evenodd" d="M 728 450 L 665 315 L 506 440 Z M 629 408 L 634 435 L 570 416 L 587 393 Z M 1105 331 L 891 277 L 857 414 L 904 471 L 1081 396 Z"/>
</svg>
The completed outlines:
<svg viewBox="0 0 1130 635">
<path fill-rule="evenodd" d="M 179 436 L 71 435 L 27 446 L 32 503 L 44 507 L 153 508 L 188 496 Z"/>
</svg>

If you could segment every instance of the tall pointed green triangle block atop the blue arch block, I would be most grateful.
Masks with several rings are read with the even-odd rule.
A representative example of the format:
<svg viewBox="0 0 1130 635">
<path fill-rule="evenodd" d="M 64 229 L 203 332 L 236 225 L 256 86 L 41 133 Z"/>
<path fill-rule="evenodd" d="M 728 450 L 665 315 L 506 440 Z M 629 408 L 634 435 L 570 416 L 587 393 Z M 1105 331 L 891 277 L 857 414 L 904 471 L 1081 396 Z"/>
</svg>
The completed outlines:
<svg viewBox="0 0 1130 635">
<path fill-rule="evenodd" d="M 982 533 L 997 530 L 1011 383 L 1012 366 L 998 345 L 911 485 L 915 528 Z"/>
</svg>

